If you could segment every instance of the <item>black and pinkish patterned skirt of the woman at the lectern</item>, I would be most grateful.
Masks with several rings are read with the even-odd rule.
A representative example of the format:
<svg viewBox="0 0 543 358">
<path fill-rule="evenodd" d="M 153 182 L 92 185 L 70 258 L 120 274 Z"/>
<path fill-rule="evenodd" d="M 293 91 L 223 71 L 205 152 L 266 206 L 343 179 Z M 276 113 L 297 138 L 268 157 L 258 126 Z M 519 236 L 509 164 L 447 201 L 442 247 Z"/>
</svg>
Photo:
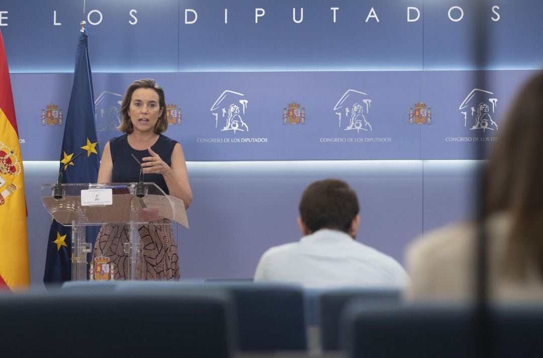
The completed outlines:
<svg viewBox="0 0 543 358">
<path fill-rule="evenodd" d="M 138 280 L 178 280 L 179 257 L 168 219 L 151 221 L 149 225 L 138 225 L 139 251 L 142 260 L 136 263 Z M 100 228 L 92 252 L 92 262 L 99 256 L 109 258 L 115 264 L 115 279 L 127 280 L 131 272 L 131 257 L 127 252 L 128 225 L 104 225 Z"/>
</svg>

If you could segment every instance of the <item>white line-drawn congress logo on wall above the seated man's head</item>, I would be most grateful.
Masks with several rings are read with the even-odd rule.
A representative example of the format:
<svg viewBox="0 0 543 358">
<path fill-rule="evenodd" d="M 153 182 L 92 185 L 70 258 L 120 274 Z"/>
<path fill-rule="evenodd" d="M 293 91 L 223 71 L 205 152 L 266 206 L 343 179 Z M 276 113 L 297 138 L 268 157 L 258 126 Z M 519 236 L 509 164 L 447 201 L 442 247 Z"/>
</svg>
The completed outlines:
<svg viewBox="0 0 543 358">
<path fill-rule="evenodd" d="M 348 89 L 333 108 L 339 119 L 339 127 L 343 125 L 344 131 L 356 130 L 357 133 L 372 131 L 369 118 L 367 118 L 370 105 L 371 98 L 367 93 L 356 89 Z"/>
</svg>

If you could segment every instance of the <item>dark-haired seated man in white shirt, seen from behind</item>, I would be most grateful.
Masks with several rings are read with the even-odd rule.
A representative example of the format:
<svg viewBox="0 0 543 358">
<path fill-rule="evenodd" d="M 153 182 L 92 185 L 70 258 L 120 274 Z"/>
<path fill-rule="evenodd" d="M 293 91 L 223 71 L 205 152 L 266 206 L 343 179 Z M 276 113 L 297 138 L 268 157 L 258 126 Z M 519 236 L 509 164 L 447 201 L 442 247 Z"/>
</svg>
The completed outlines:
<svg viewBox="0 0 543 358">
<path fill-rule="evenodd" d="M 343 181 L 308 186 L 300 201 L 298 242 L 266 251 L 255 281 L 299 283 L 311 288 L 403 287 L 407 274 L 392 257 L 355 241 L 360 224 L 355 192 Z"/>
</svg>

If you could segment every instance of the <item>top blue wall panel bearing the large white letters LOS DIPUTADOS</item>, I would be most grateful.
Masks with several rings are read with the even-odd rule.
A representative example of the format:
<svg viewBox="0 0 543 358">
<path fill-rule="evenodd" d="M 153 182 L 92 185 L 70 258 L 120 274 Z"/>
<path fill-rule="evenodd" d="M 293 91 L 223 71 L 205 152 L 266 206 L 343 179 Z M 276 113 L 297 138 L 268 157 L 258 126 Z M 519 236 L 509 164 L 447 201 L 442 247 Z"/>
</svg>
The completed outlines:
<svg viewBox="0 0 543 358">
<path fill-rule="evenodd" d="M 83 2 L 7 1 L 0 27 L 12 72 L 73 71 L 82 18 L 95 72 L 475 69 L 482 46 L 484 68 L 529 69 L 541 65 L 532 36 L 542 9 L 538 0 L 487 1 L 482 14 L 470 0 L 88 0 L 84 17 Z"/>
</svg>

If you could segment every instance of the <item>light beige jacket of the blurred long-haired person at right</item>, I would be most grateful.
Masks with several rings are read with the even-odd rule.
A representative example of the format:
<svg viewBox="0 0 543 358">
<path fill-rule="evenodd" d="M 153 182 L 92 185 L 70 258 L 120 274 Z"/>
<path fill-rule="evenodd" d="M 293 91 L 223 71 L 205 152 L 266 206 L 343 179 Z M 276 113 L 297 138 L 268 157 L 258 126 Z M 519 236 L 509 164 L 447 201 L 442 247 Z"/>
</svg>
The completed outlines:
<svg viewBox="0 0 543 358">
<path fill-rule="evenodd" d="M 522 282 L 505 277 L 500 268 L 507 250 L 511 223 L 507 214 L 487 221 L 489 296 L 493 301 L 542 301 L 543 279 L 535 265 L 527 263 L 528 277 Z M 411 282 L 408 300 L 465 301 L 475 293 L 476 226 L 447 225 L 415 239 L 406 251 Z"/>
</svg>

